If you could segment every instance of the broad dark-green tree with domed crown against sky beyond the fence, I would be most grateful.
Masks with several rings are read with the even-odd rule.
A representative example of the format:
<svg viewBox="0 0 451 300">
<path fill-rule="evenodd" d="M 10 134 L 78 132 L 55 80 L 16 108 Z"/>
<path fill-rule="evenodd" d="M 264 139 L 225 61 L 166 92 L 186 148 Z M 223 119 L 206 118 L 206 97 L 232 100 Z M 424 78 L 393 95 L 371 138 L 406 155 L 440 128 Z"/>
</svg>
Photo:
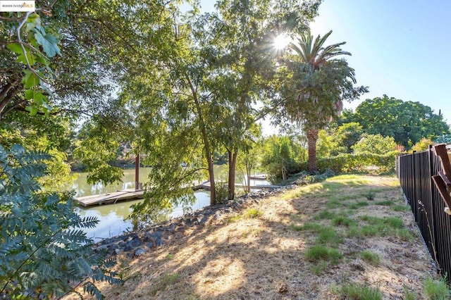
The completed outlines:
<svg viewBox="0 0 451 300">
<path fill-rule="evenodd" d="M 397 144 L 407 149 L 423 137 L 435 139 L 450 133 L 443 115 L 433 113 L 429 106 L 387 95 L 359 104 L 352 121 L 362 125 L 366 133 L 393 137 Z"/>
</svg>

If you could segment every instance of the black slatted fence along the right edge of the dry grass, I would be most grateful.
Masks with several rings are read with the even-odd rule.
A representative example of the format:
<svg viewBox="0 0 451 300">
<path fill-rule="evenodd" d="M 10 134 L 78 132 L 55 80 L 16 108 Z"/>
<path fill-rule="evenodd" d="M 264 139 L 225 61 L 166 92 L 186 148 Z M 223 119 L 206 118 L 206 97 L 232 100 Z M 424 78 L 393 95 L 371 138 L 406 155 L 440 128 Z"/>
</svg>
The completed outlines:
<svg viewBox="0 0 451 300">
<path fill-rule="evenodd" d="M 451 215 L 444 212 L 446 205 L 431 179 L 439 170 L 432 148 L 396 159 L 397 177 L 424 242 L 440 272 L 451 275 Z"/>
</svg>

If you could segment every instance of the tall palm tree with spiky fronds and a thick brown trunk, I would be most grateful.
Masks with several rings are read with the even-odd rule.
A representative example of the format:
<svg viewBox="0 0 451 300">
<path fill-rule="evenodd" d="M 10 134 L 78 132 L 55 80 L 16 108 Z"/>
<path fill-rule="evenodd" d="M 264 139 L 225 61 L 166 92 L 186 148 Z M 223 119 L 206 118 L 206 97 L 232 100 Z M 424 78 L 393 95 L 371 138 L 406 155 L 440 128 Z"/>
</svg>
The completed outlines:
<svg viewBox="0 0 451 300">
<path fill-rule="evenodd" d="M 335 96 L 324 96 L 321 89 L 324 86 L 312 83 L 314 80 L 314 74 L 326 66 L 331 67 L 332 73 L 329 73 L 329 77 L 335 71 L 341 73 L 340 79 L 345 76 L 345 83 L 348 81 L 346 78 L 350 78 L 355 83 L 354 70 L 347 66 L 344 60 L 333 59 L 335 56 L 351 55 L 350 52 L 342 51 L 340 46 L 346 42 L 332 44 L 330 46 L 324 46 L 326 39 L 330 36 L 332 30 L 323 37 L 314 37 L 309 31 L 297 37 L 296 43 L 290 44 L 290 49 L 295 51 L 297 60 L 299 61 L 300 68 L 298 70 L 304 74 L 304 82 L 299 87 L 297 97 L 295 101 L 295 109 L 291 108 L 291 113 L 288 114 L 292 119 L 297 120 L 299 123 L 303 123 L 304 130 L 307 132 L 307 142 L 309 149 L 309 171 L 318 170 L 316 161 L 316 140 L 318 139 L 318 132 L 326 123 L 329 123 L 333 118 L 333 115 L 342 111 L 342 93 L 335 93 Z M 343 72 L 343 70 L 345 72 Z M 336 73 L 336 72 L 335 72 Z M 334 80 L 330 81 L 333 82 Z M 338 83 L 338 85 L 340 85 Z M 340 89 L 338 85 L 332 84 L 326 88 L 328 89 Z M 327 98 L 327 99 L 324 99 Z"/>
</svg>

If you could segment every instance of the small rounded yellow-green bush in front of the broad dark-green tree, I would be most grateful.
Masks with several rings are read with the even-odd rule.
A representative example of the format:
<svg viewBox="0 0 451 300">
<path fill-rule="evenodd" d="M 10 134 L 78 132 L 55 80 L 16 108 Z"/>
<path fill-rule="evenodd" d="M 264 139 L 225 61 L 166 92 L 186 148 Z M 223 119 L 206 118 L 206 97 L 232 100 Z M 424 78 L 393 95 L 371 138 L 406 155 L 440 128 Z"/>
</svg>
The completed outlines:
<svg viewBox="0 0 451 300">
<path fill-rule="evenodd" d="M 372 154 L 387 154 L 395 151 L 396 142 L 393 137 L 383 137 L 382 135 L 362 135 L 362 138 L 352 146 L 355 154 L 370 152 Z"/>
</svg>

